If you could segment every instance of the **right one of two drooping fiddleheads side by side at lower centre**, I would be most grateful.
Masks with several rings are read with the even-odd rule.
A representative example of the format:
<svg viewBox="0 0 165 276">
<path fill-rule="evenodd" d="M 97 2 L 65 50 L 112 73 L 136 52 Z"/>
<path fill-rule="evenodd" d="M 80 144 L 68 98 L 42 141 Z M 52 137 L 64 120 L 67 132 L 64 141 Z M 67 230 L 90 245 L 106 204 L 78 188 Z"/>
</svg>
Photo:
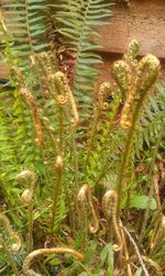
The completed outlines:
<svg viewBox="0 0 165 276">
<path fill-rule="evenodd" d="M 108 222 L 112 221 L 118 244 L 113 245 L 114 251 L 120 251 L 123 247 L 121 225 L 117 218 L 118 195 L 114 190 L 108 190 L 102 199 L 102 209 Z"/>
</svg>

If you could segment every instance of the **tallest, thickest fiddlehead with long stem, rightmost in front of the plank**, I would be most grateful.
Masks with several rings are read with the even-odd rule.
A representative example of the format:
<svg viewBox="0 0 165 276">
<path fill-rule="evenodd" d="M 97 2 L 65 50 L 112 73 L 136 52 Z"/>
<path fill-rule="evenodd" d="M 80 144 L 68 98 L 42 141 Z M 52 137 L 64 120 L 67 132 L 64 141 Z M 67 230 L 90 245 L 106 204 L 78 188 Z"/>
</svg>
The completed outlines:
<svg viewBox="0 0 165 276">
<path fill-rule="evenodd" d="M 141 109 L 146 99 L 148 90 L 155 84 L 160 73 L 160 60 L 153 56 L 147 55 L 143 57 L 138 66 L 136 76 L 132 73 L 131 89 L 124 101 L 121 113 L 121 128 L 128 130 L 128 137 L 125 141 L 124 152 L 122 156 L 121 167 L 118 177 L 118 217 L 120 212 L 120 202 L 122 195 L 123 179 L 127 173 L 127 166 L 131 153 L 132 142 L 134 137 L 135 126 L 140 119 Z"/>
</svg>

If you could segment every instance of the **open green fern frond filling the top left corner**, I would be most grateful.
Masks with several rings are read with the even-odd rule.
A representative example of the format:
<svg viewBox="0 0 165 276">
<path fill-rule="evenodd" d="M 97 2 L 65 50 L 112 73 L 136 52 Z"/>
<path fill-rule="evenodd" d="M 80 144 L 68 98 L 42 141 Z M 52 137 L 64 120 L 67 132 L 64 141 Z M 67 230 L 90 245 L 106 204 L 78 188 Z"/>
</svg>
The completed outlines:
<svg viewBox="0 0 165 276">
<path fill-rule="evenodd" d="M 29 57 L 50 48 L 46 38 L 47 2 L 45 0 L 2 0 L 2 11 L 7 30 L 13 36 L 13 48 L 22 59 L 22 66 Z"/>
</svg>

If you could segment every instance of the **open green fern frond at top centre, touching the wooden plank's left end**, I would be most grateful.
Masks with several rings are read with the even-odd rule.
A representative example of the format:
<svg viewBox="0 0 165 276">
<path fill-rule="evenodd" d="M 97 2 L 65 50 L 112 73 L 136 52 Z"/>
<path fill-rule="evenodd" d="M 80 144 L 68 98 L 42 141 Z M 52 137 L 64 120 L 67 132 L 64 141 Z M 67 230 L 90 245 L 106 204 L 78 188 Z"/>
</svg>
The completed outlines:
<svg viewBox="0 0 165 276">
<path fill-rule="evenodd" d="M 96 66 L 102 63 L 96 53 L 101 46 L 94 41 L 94 36 L 99 35 L 94 26 L 106 23 L 105 20 L 111 15 L 110 4 L 103 0 L 62 0 L 55 7 L 58 8 L 55 18 L 62 25 L 59 32 L 76 52 L 73 92 L 78 99 L 79 110 L 82 109 L 80 113 L 88 119 L 99 71 Z"/>
</svg>

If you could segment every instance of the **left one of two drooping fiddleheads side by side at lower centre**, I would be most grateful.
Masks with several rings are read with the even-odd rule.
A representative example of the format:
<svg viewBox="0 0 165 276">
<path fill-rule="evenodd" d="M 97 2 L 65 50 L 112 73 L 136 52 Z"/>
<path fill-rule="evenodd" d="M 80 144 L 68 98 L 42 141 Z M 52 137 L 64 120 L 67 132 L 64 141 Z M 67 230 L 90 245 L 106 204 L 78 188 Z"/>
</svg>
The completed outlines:
<svg viewBox="0 0 165 276">
<path fill-rule="evenodd" d="M 85 184 L 78 192 L 77 202 L 80 209 L 80 218 L 81 218 L 81 214 L 85 217 L 84 218 L 85 221 L 82 223 L 86 229 L 87 229 L 88 212 L 89 212 L 89 207 L 90 207 L 91 216 L 92 216 L 92 224 L 89 227 L 89 230 L 91 233 L 95 234 L 98 231 L 99 221 L 98 221 L 92 201 L 94 199 L 92 199 L 90 187 L 87 184 Z"/>
</svg>

